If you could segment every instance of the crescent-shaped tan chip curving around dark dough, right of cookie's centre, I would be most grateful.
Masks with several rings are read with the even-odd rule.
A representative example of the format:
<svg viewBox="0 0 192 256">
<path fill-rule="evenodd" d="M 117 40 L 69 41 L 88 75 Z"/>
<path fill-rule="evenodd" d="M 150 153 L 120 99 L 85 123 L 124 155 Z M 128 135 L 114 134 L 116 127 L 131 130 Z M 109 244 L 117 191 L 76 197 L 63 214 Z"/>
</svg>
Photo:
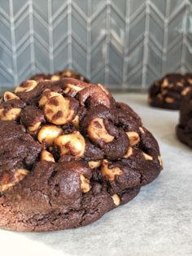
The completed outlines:
<svg viewBox="0 0 192 256">
<path fill-rule="evenodd" d="M 114 139 L 114 137 L 107 132 L 103 123 L 103 118 L 99 117 L 96 117 L 90 121 L 87 128 L 87 133 L 89 138 L 94 142 L 103 140 L 104 143 L 109 143 Z"/>
</svg>

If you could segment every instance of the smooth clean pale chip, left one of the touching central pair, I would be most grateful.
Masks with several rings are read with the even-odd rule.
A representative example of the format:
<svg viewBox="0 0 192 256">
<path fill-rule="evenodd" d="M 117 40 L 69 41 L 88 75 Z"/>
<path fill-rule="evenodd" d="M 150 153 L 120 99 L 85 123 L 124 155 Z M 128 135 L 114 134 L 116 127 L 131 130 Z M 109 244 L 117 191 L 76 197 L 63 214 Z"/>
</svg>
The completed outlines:
<svg viewBox="0 0 192 256">
<path fill-rule="evenodd" d="M 54 125 L 45 125 L 39 130 L 37 139 L 40 143 L 46 143 L 47 146 L 50 146 L 54 143 L 54 140 L 61 135 L 63 130 L 58 126 Z"/>
</svg>

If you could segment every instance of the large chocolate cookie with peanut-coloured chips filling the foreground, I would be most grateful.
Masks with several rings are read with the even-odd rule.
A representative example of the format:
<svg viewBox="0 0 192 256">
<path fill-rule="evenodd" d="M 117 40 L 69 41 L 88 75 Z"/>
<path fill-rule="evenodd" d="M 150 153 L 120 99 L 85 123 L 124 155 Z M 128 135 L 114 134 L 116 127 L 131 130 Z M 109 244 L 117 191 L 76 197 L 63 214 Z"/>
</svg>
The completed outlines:
<svg viewBox="0 0 192 256">
<path fill-rule="evenodd" d="M 154 180 L 159 146 L 102 85 L 27 81 L 0 104 L 0 227 L 80 227 Z"/>
</svg>

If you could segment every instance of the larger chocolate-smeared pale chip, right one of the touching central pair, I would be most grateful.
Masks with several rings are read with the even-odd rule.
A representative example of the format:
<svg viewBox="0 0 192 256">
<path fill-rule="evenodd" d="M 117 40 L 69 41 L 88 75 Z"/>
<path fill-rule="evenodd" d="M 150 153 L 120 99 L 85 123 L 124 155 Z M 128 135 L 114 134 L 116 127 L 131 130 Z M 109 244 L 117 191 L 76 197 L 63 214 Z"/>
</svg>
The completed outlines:
<svg viewBox="0 0 192 256">
<path fill-rule="evenodd" d="M 85 152 L 85 139 L 79 131 L 69 135 L 61 135 L 55 139 L 55 144 L 60 148 L 60 155 L 71 153 L 72 156 L 82 157 Z"/>
</svg>

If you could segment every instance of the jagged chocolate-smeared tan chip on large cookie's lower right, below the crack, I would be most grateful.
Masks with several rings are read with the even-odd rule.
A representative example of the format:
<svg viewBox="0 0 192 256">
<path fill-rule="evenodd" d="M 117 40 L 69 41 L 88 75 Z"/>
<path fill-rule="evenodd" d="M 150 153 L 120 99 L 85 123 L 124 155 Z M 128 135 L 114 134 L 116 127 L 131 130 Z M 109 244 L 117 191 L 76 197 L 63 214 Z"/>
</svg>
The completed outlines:
<svg viewBox="0 0 192 256">
<path fill-rule="evenodd" d="M 101 172 L 102 172 L 103 176 L 106 177 L 107 179 L 109 179 L 110 181 L 113 181 L 115 179 L 116 175 L 123 174 L 123 171 L 120 170 L 119 167 L 109 168 L 108 165 L 109 165 L 108 161 L 103 160 Z"/>
</svg>

